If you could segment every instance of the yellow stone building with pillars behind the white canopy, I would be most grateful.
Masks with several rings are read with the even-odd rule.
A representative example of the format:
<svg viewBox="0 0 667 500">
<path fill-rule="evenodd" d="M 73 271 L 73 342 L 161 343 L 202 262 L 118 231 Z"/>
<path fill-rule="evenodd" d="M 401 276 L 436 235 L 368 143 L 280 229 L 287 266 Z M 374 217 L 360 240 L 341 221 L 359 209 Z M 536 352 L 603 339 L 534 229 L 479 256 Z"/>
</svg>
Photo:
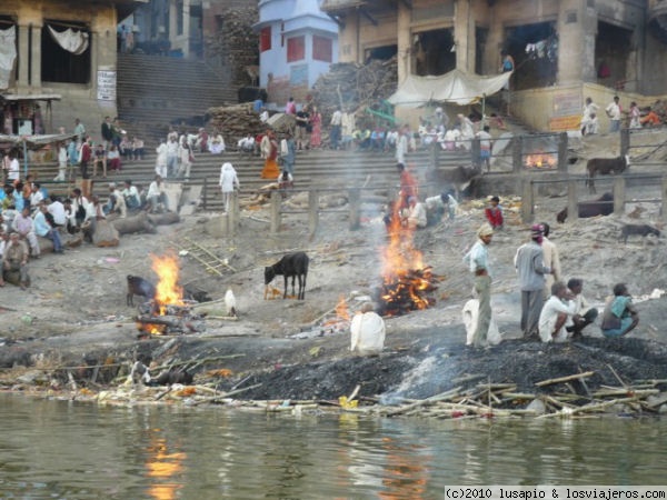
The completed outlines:
<svg viewBox="0 0 667 500">
<path fill-rule="evenodd" d="M 618 93 L 627 109 L 667 93 L 665 3 L 325 0 L 321 8 L 339 24 L 341 62 L 396 56 L 399 84 L 409 74 L 455 68 L 498 73 L 507 51 L 515 60 L 512 114 L 537 129 L 563 130 L 580 117 L 586 97 L 604 107 Z"/>
</svg>

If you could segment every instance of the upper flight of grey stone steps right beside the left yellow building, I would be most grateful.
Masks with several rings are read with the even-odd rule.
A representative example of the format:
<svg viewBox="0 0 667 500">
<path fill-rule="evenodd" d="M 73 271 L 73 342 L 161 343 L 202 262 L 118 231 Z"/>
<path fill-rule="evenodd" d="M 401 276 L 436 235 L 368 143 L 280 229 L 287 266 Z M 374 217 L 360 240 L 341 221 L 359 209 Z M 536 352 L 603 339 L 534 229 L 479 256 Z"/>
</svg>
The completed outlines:
<svg viewBox="0 0 667 500">
<path fill-rule="evenodd" d="M 146 54 L 118 54 L 118 116 L 130 137 L 147 144 L 166 137 L 171 122 L 197 126 L 213 106 L 237 102 L 229 76 L 201 61 Z"/>
</svg>

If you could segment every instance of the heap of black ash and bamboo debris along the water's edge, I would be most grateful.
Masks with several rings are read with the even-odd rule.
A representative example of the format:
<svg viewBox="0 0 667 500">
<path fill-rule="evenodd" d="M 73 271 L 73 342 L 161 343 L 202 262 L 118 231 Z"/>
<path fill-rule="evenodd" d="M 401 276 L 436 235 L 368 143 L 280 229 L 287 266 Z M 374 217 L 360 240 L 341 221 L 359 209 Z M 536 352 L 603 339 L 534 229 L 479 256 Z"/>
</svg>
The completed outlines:
<svg viewBox="0 0 667 500">
<path fill-rule="evenodd" d="M 175 347 L 168 350 L 172 360 Z M 180 346 L 181 358 L 187 349 Z M 41 376 L 31 370 L 10 387 L 100 404 L 216 404 L 287 414 L 449 419 L 667 413 L 667 347 L 643 339 L 586 338 L 570 344 L 509 340 L 488 350 L 416 342 L 377 357 L 276 363 L 238 373 L 221 368 L 232 359 L 193 358 L 160 367 L 189 367 L 191 386 L 116 384 L 127 378 L 122 370 L 113 383 L 100 386 L 88 383 L 91 370 L 52 369 Z"/>
</svg>

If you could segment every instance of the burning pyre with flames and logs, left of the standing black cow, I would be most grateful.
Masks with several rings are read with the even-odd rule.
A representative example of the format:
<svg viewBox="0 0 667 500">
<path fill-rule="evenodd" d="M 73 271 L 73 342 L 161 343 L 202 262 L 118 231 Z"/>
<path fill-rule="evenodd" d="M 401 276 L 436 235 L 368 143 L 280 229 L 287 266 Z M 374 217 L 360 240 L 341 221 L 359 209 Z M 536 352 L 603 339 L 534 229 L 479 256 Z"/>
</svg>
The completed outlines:
<svg viewBox="0 0 667 500">
<path fill-rule="evenodd" d="M 150 257 L 159 281 L 155 297 L 139 306 L 139 331 L 158 336 L 203 331 L 203 317 L 192 310 L 196 301 L 185 300 L 183 289 L 178 286 L 178 257 Z"/>
</svg>

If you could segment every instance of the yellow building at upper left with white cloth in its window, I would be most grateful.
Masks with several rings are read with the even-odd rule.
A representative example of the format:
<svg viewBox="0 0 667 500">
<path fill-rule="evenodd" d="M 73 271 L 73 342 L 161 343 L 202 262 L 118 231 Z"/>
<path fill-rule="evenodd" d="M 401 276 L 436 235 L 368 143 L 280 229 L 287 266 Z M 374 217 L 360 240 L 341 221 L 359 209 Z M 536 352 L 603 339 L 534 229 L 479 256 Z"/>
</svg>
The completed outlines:
<svg viewBox="0 0 667 500">
<path fill-rule="evenodd" d="M 115 117 L 117 24 L 135 0 L 2 0 L 0 106 L 4 133 L 73 130 L 97 138 Z"/>
</svg>

